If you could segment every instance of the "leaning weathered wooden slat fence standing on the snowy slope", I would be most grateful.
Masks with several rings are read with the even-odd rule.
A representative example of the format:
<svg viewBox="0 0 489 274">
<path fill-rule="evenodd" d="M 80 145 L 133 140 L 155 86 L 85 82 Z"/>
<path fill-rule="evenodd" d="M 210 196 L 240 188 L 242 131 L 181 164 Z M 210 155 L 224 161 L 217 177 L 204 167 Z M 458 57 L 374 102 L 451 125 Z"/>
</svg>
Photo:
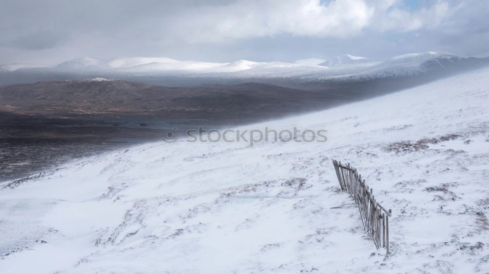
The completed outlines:
<svg viewBox="0 0 489 274">
<path fill-rule="evenodd" d="M 350 164 L 342 165 L 341 162 L 333 160 L 333 165 L 341 190 L 348 192 L 355 199 L 363 227 L 372 235 L 375 247 L 385 247 L 386 254 L 389 254 L 389 217 L 392 210 L 386 210 L 375 200 L 373 190 Z"/>
</svg>

